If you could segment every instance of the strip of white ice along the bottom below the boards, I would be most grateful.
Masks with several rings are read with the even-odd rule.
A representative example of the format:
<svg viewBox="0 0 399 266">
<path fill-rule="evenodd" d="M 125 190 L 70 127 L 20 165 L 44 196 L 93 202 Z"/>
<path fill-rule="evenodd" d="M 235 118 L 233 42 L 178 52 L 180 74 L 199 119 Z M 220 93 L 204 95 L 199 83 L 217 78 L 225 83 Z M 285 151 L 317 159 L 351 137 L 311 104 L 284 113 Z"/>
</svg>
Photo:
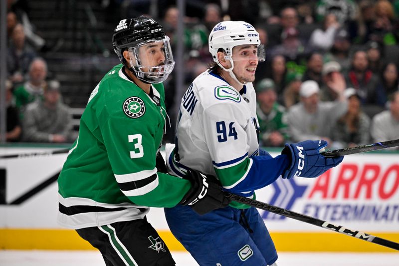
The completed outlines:
<svg viewBox="0 0 399 266">
<path fill-rule="evenodd" d="M 177 266 L 198 266 L 187 252 L 172 253 Z M 103 266 L 95 251 L 0 251 L 0 266 Z M 280 252 L 278 266 L 399 266 L 399 253 Z"/>
</svg>

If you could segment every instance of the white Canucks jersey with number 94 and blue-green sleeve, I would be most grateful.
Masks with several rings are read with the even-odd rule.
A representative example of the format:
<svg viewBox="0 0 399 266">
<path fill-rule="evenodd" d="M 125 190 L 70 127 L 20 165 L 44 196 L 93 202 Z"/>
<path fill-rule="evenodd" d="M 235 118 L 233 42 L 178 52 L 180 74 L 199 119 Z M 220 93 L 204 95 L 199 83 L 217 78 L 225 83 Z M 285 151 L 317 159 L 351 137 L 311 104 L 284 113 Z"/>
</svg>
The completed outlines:
<svg viewBox="0 0 399 266">
<path fill-rule="evenodd" d="M 252 83 L 238 92 L 219 75 L 205 71 L 182 98 L 176 148 L 168 166 L 179 176 L 187 167 L 215 175 L 225 190 L 251 197 L 253 190 L 273 182 L 288 164 L 285 156 L 280 160 L 256 156 L 258 128 Z M 276 173 L 268 175 L 270 165 Z"/>
</svg>

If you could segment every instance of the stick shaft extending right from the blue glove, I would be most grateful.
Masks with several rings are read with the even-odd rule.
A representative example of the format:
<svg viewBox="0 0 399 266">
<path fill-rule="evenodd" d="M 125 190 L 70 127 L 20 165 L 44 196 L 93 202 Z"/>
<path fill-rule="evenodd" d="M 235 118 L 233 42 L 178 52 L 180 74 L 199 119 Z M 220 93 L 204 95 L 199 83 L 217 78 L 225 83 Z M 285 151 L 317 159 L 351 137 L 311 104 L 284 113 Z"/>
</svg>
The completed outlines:
<svg viewBox="0 0 399 266">
<path fill-rule="evenodd" d="M 373 144 L 366 144 L 357 147 L 345 148 L 334 151 L 326 151 L 326 152 L 321 152 L 320 154 L 325 157 L 338 157 L 338 156 L 344 156 L 361 152 L 376 151 L 397 146 L 399 146 L 399 139 L 377 142 Z"/>
</svg>

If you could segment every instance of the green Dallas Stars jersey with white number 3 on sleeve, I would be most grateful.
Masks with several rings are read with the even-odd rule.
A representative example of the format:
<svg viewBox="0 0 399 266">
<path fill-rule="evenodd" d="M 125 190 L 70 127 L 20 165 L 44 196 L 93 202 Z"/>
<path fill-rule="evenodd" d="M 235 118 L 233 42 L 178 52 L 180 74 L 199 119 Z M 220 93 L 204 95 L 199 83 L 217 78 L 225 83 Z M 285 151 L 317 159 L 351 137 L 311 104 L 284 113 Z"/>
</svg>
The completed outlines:
<svg viewBox="0 0 399 266">
<path fill-rule="evenodd" d="M 158 173 L 165 126 L 163 84 L 148 95 L 122 64 L 90 95 L 79 136 L 58 178 L 58 222 L 80 229 L 143 218 L 149 207 L 173 207 L 190 182 Z"/>
</svg>

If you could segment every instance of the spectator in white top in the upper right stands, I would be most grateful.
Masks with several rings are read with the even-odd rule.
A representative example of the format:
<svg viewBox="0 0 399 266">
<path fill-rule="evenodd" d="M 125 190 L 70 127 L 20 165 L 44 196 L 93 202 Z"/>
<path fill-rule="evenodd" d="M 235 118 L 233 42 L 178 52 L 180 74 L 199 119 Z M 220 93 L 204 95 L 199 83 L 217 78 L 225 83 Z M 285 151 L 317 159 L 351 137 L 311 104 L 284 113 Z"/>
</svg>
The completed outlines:
<svg viewBox="0 0 399 266">
<path fill-rule="evenodd" d="M 335 14 L 330 13 L 324 17 L 323 29 L 317 28 L 312 32 L 308 45 L 315 50 L 327 51 L 334 44 L 334 38 L 340 24 Z"/>
</svg>

